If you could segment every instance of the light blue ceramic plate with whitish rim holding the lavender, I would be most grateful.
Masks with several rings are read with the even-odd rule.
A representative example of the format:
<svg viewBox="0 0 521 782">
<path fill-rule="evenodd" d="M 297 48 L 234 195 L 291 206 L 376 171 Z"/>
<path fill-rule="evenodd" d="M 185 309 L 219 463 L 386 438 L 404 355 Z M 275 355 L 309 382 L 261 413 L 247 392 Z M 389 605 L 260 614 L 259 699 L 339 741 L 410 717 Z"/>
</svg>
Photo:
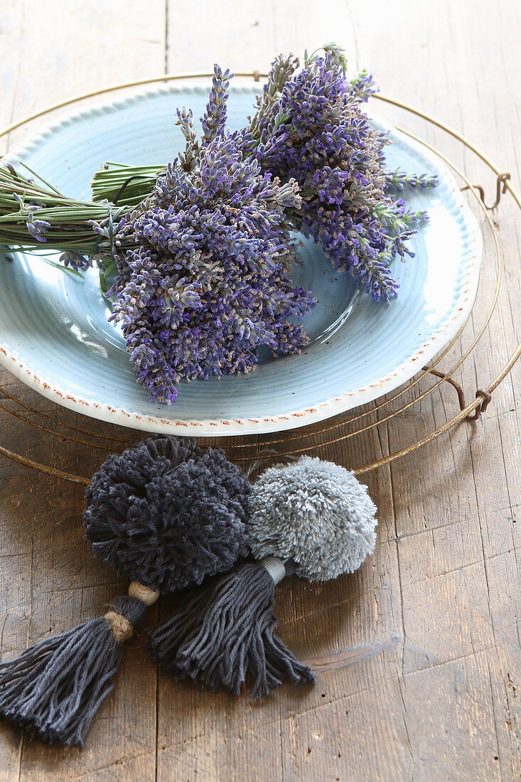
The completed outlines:
<svg viewBox="0 0 521 782">
<path fill-rule="evenodd" d="M 105 160 L 164 163 L 182 146 L 175 109 L 199 117 L 207 88 L 163 88 L 69 117 L 17 153 L 68 195 L 89 198 Z M 229 125 L 244 124 L 253 90 L 232 89 Z M 481 236 L 455 181 L 440 163 L 391 130 L 390 166 L 428 171 L 440 185 L 406 195 L 430 223 L 412 242 L 416 256 L 393 263 L 400 294 L 389 306 L 332 271 L 311 242 L 293 279 L 311 289 L 311 342 L 300 356 L 262 356 L 250 375 L 181 383 L 173 406 L 151 404 L 135 382 L 98 275 L 63 274 L 34 256 L 2 261 L 0 360 L 14 375 L 65 407 L 135 429 L 193 435 L 273 432 L 320 421 L 390 392 L 415 375 L 457 332 L 478 283 Z M 13 156 L 10 156 L 13 159 Z M 16 156 L 15 156 L 16 160 Z"/>
</svg>

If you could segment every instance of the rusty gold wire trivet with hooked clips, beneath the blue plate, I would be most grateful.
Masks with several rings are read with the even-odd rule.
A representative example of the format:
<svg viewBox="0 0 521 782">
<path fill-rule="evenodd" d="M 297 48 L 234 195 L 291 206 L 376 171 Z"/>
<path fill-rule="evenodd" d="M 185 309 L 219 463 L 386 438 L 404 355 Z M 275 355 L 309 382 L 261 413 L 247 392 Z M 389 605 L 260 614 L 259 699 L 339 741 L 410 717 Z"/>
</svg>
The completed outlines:
<svg viewBox="0 0 521 782">
<path fill-rule="evenodd" d="M 267 74 L 260 74 L 260 72 L 256 70 L 253 71 L 253 73 L 241 73 L 235 75 L 239 77 L 250 77 L 250 78 L 253 77 L 255 81 L 259 81 L 260 77 L 266 77 Z M 32 120 L 38 119 L 38 117 L 44 117 L 45 115 L 52 113 L 57 109 L 62 109 L 64 106 L 70 106 L 76 102 L 83 101 L 85 99 L 97 97 L 99 95 L 104 95 L 106 93 L 110 93 L 121 89 L 144 86 L 146 84 L 157 84 L 158 82 L 168 82 L 168 81 L 182 80 L 182 79 L 189 79 L 189 78 L 206 79 L 212 76 L 213 74 L 166 74 L 164 76 L 160 76 L 156 78 L 147 78 L 138 81 L 126 82 L 124 84 L 117 84 L 116 86 L 104 88 L 102 90 L 88 92 L 84 95 L 79 95 L 76 98 L 72 98 L 63 102 L 56 103 L 53 106 L 49 106 L 49 108 L 47 109 L 42 109 L 41 111 L 31 114 L 31 116 L 29 117 L 24 117 L 22 120 L 19 120 L 9 125 L 9 127 L 5 127 L 3 131 L 0 131 L 0 138 L 9 135 L 9 133 L 11 133 L 12 131 L 16 130 L 19 127 L 22 127 L 23 125 L 28 124 Z M 483 213 L 483 217 L 488 227 L 490 228 L 490 232 L 493 238 L 494 251 L 495 251 L 495 274 L 496 274 L 494 294 L 490 302 L 490 306 L 488 307 L 487 314 L 484 318 L 483 324 L 476 332 L 476 335 L 474 336 L 474 339 L 472 339 L 472 342 L 470 343 L 469 347 L 467 348 L 467 350 L 465 350 L 464 353 L 462 353 L 462 356 L 459 357 L 458 361 L 456 361 L 451 368 L 445 371 L 440 371 L 439 369 L 437 369 L 437 365 L 440 364 L 440 361 L 442 361 L 442 359 L 447 355 L 447 353 L 451 350 L 451 348 L 455 346 L 455 343 L 458 342 L 458 339 L 462 335 L 465 325 L 469 321 L 469 317 L 472 313 L 470 313 L 469 316 L 466 318 L 465 323 L 458 330 L 458 333 L 455 335 L 454 339 L 451 339 L 451 342 L 444 347 L 444 350 L 442 350 L 440 353 L 437 354 L 436 360 L 433 361 L 431 364 L 429 364 L 429 366 L 423 367 L 422 371 L 419 372 L 419 374 L 416 375 L 415 378 L 412 378 L 411 381 L 409 381 L 404 386 L 402 386 L 401 389 L 397 390 L 396 393 L 393 393 L 392 396 L 387 396 L 383 400 L 377 401 L 376 404 L 374 404 L 374 406 L 370 407 L 370 409 L 361 411 L 358 414 L 350 415 L 348 418 L 345 418 L 342 421 L 335 421 L 329 424 L 326 423 L 325 425 L 321 424 L 319 425 L 318 429 L 316 428 L 305 429 L 305 430 L 296 429 L 293 430 L 293 432 L 282 432 L 278 436 L 275 437 L 271 436 L 271 438 L 269 436 L 253 435 L 250 436 L 250 442 L 246 442 L 246 443 L 233 443 L 231 441 L 236 438 L 227 437 L 225 448 L 228 451 L 228 455 L 232 458 L 233 461 L 253 461 L 259 457 L 260 451 L 262 452 L 263 450 L 267 458 L 273 458 L 273 457 L 280 458 L 280 457 L 288 457 L 290 455 L 293 456 L 295 454 L 305 454 L 310 450 L 317 450 L 318 448 L 331 446 L 334 443 L 346 441 L 354 436 L 361 435 L 363 432 L 368 432 L 369 430 L 374 429 L 379 425 L 385 424 L 387 421 L 390 421 L 392 418 L 395 418 L 398 414 L 401 414 L 404 411 L 408 411 L 409 408 L 411 408 L 415 404 L 418 404 L 419 402 L 421 403 L 422 400 L 426 399 L 427 396 L 432 394 L 436 389 L 440 388 L 440 386 L 442 386 L 444 383 L 448 383 L 451 386 L 453 386 L 458 394 L 458 403 L 460 407 L 460 411 L 457 414 L 455 414 L 453 418 L 450 418 L 443 425 L 440 425 L 437 429 L 434 429 L 432 432 L 429 432 L 429 434 L 427 434 L 426 436 L 415 440 L 415 442 L 410 443 L 408 446 L 402 448 L 401 450 L 394 451 L 392 454 L 387 454 L 381 459 L 378 459 L 366 465 L 362 465 L 361 467 L 356 468 L 354 472 L 357 475 L 361 475 L 365 472 L 369 472 L 376 468 L 383 467 L 383 465 L 388 465 L 392 461 L 404 457 L 407 454 L 411 454 L 413 451 L 418 450 L 420 447 L 426 445 L 427 443 L 433 442 L 433 440 L 445 434 L 450 429 L 453 429 L 456 425 L 458 425 L 462 421 L 465 420 L 477 421 L 477 419 L 480 418 L 480 415 L 487 409 L 487 405 L 490 402 L 491 394 L 494 392 L 495 389 L 498 388 L 499 384 L 505 379 L 506 375 L 508 375 L 508 372 L 512 370 L 512 367 L 514 366 L 514 364 L 516 364 L 516 361 L 518 361 L 519 357 L 521 356 L 521 343 L 519 343 L 516 346 L 516 349 L 513 350 L 513 352 L 511 353 L 510 357 L 508 358 L 508 361 L 506 361 L 506 363 L 498 370 L 498 374 L 492 380 L 490 380 L 487 386 L 483 387 L 482 389 L 478 389 L 476 391 L 475 398 L 472 399 L 472 401 L 470 402 L 467 402 L 465 400 L 465 395 L 463 393 L 462 387 L 455 380 L 455 378 L 453 378 L 455 371 L 457 371 L 458 368 L 462 367 L 462 364 L 464 364 L 466 359 L 476 348 L 476 345 L 480 342 L 480 339 L 483 337 L 483 334 L 487 331 L 487 328 L 490 324 L 490 319 L 494 314 L 494 310 L 498 304 L 500 287 L 501 287 L 501 274 L 503 270 L 503 255 L 501 252 L 501 244 L 498 239 L 498 229 L 496 228 L 494 221 L 490 219 L 489 211 L 494 210 L 498 206 L 501 200 L 501 195 L 505 195 L 505 193 L 507 192 L 509 193 L 509 195 L 512 196 L 512 199 L 516 203 L 516 206 L 519 208 L 519 210 L 521 210 L 521 196 L 516 191 L 516 189 L 513 188 L 510 182 L 510 174 L 508 174 L 508 172 L 501 171 L 501 169 L 498 168 L 496 164 L 492 160 L 490 160 L 490 158 L 487 155 L 485 155 L 483 152 L 480 151 L 480 149 L 478 149 L 475 145 L 469 142 L 467 138 L 465 138 L 463 135 L 459 134 L 457 131 L 453 130 L 451 127 L 447 126 L 443 122 L 440 122 L 440 120 L 437 120 L 434 117 L 430 117 L 428 114 L 423 113 L 418 109 L 414 109 L 405 103 L 390 98 L 386 98 L 383 95 L 374 95 L 374 98 L 386 102 L 390 106 L 396 106 L 399 109 L 404 109 L 404 111 L 411 113 L 422 120 L 426 120 L 426 122 L 432 124 L 437 128 L 440 128 L 440 130 L 444 131 L 448 135 L 451 135 L 452 138 L 455 138 L 456 141 L 464 145 L 466 149 L 469 149 L 470 152 L 472 152 L 478 158 L 480 158 L 480 160 L 482 160 L 482 162 L 485 163 L 485 165 L 494 172 L 496 177 L 496 185 L 497 185 L 496 199 L 493 204 L 487 206 L 484 200 L 483 187 L 481 185 L 472 185 L 472 183 L 469 181 L 469 178 L 467 178 L 466 174 L 462 170 L 460 170 L 455 165 L 455 163 L 453 163 L 447 156 L 445 156 L 442 152 L 440 152 L 439 149 L 437 149 L 433 145 L 430 145 L 422 138 L 419 138 L 419 136 L 411 133 L 411 131 L 405 130 L 403 127 L 395 126 L 397 127 L 397 130 L 401 131 L 401 133 L 408 135 L 409 138 L 414 139 L 415 142 L 418 142 L 422 146 L 426 147 L 426 149 L 429 149 L 430 152 L 435 153 L 440 158 L 440 160 L 443 160 L 444 163 L 446 163 L 447 166 L 449 166 L 455 172 L 455 174 L 457 174 L 457 176 L 465 183 L 464 185 L 462 185 L 461 188 L 462 191 L 466 190 L 469 192 L 469 195 L 471 195 L 472 198 L 475 199 L 476 204 L 480 207 L 480 210 Z M 379 417 L 380 411 L 384 411 L 386 407 L 388 407 L 396 400 L 402 400 L 404 395 L 411 392 L 411 389 L 416 389 L 419 382 L 421 382 L 422 379 L 426 378 L 427 376 L 433 376 L 438 378 L 437 382 L 435 382 L 433 386 L 430 386 L 428 389 L 423 390 L 421 393 L 412 395 L 411 399 L 408 400 L 406 399 L 402 401 L 400 407 L 397 407 L 396 409 L 393 409 L 390 412 L 386 412 L 386 414 L 383 414 L 383 418 Z M 38 411 L 34 407 L 31 407 L 31 405 L 26 404 L 20 399 L 17 399 L 16 396 L 10 394 L 2 386 L 0 386 L 0 393 L 3 396 L 3 399 L 0 400 L 1 410 L 13 415 L 15 418 L 17 418 L 20 421 L 23 421 L 24 423 L 34 426 L 43 432 L 47 432 L 49 435 L 61 437 L 62 439 L 66 439 L 71 443 L 78 443 L 87 447 L 96 448 L 110 453 L 118 452 L 118 451 L 120 452 L 121 450 L 124 450 L 125 447 L 128 447 L 129 445 L 131 445 L 131 443 L 134 442 L 134 440 L 113 436 L 111 434 L 102 435 L 96 432 L 91 432 L 88 429 L 84 429 L 79 426 L 74 426 L 65 421 L 56 421 L 55 418 L 52 418 L 52 415 L 45 414 L 42 411 Z M 18 407 L 21 408 L 22 412 L 13 411 L 6 404 L 3 404 L 5 401 L 9 401 L 13 404 L 18 405 Z M 23 411 L 25 411 L 25 413 L 37 415 L 43 422 L 33 421 L 31 418 L 28 418 L 27 414 L 25 414 Z M 375 420 L 365 422 L 366 419 L 370 418 L 371 416 L 375 416 L 376 417 Z M 57 430 L 56 427 L 61 427 L 64 431 L 59 431 L 59 429 Z M 323 441 L 319 443 L 314 443 L 313 445 L 307 445 L 305 442 L 303 442 L 310 436 L 317 436 L 317 435 L 324 436 L 325 439 L 323 439 Z M 279 439 L 280 436 L 283 436 L 284 439 L 282 440 Z M 280 450 L 276 450 L 277 446 L 280 447 Z M 273 447 L 275 447 L 275 450 L 266 451 L 266 449 L 270 449 Z M 90 483 L 90 479 L 82 475 L 75 475 L 74 473 L 63 472 L 62 470 L 49 467 L 49 465 L 43 465 L 37 461 L 33 461 L 31 459 L 23 457 L 20 454 L 16 454 L 13 451 L 8 450 L 3 446 L 0 446 L 0 455 L 12 461 L 16 461 L 21 465 L 25 465 L 26 467 L 36 469 L 40 472 L 44 472 L 46 475 L 52 475 L 53 477 L 56 478 L 66 479 L 71 482 L 80 483 L 84 486 L 88 486 L 88 484 Z"/>
</svg>

